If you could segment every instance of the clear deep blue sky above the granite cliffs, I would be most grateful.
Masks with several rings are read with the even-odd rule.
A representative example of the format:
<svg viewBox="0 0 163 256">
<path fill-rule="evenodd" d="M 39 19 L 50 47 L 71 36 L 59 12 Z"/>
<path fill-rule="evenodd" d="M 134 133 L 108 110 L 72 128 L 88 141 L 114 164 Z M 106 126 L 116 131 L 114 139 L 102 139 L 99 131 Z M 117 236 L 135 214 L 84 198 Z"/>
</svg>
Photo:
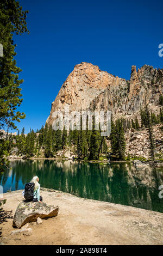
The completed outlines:
<svg viewBox="0 0 163 256">
<path fill-rule="evenodd" d="M 80 62 L 130 78 L 131 65 L 163 68 L 163 1 L 21 0 L 29 35 L 14 36 L 26 119 L 18 129 L 39 129 L 59 89 Z"/>
</svg>

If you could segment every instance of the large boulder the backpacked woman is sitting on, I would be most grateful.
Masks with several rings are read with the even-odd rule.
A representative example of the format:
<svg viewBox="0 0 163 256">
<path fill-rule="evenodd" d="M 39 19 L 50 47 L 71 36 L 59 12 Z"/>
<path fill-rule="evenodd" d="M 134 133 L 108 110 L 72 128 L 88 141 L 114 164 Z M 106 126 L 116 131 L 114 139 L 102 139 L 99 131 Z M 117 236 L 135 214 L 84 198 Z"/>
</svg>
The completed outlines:
<svg viewBox="0 0 163 256">
<path fill-rule="evenodd" d="M 13 225 L 21 228 L 27 222 L 35 222 L 37 218 L 55 217 L 58 215 L 58 206 L 39 202 L 21 202 L 16 209 Z"/>
</svg>

